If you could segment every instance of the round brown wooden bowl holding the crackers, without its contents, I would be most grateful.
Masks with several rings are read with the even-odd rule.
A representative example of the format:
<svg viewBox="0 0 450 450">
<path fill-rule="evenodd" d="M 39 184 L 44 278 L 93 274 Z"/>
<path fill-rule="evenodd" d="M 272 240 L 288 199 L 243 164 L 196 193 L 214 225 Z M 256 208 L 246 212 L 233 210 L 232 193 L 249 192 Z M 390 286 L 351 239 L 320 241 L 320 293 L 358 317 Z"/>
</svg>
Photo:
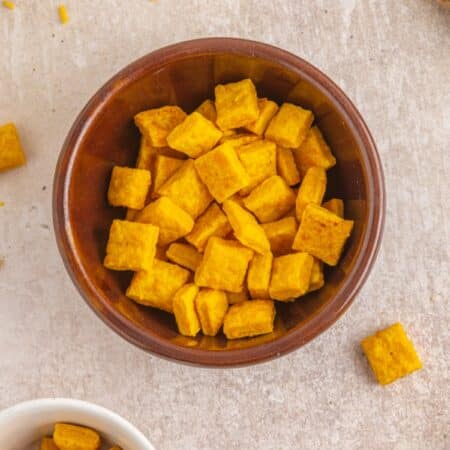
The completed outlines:
<svg viewBox="0 0 450 450">
<path fill-rule="evenodd" d="M 133 116 L 177 104 L 192 111 L 213 98 L 217 83 L 251 78 L 260 96 L 313 110 L 338 163 L 327 196 L 345 201 L 355 228 L 326 285 L 294 303 L 277 305 L 275 331 L 237 341 L 185 338 L 173 317 L 137 305 L 124 292 L 131 273 L 102 265 L 108 230 L 125 211 L 108 206 L 114 165 L 133 166 L 139 132 Z M 132 63 L 106 83 L 78 116 L 55 173 L 53 219 L 66 268 L 95 313 L 122 337 L 157 355 L 207 366 L 236 366 L 280 356 L 317 336 L 344 313 L 367 278 L 381 240 L 383 173 L 373 139 L 345 94 L 303 59 L 270 45 L 212 38 L 175 44 Z"/>
</svg>

